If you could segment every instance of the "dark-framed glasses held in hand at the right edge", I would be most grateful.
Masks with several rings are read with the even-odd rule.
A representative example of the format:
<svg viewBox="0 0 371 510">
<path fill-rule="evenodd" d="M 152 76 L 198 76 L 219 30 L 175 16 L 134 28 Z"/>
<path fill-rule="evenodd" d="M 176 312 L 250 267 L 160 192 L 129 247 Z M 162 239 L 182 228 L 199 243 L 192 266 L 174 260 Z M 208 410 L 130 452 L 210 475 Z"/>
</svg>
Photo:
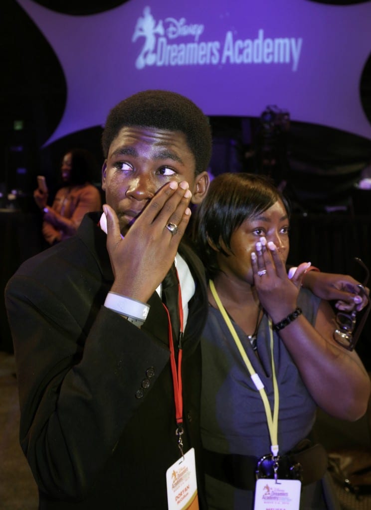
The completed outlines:
<svg viewBox="0 0 371 510">
<path fill-rule="evenodd" d="M 339 345 L 348 350 L 353 350 L 355 348 L 356 343 L 358 342 L 359 336 L 361 334 L 361 331 L 366 323 L 369 311 L 371 309 L 371 301 L 369 300 L 369 297 L 365 289 L 365 286 L 367 285 L 369 278 L 369 270 L 361 259 L 355 257 L 354 260 L 365 271 L 365 277 L 363 279 L 362 285 L 357 285 L 358 295 L 361 297 L 366 296 L 368 302 L 367 306 L 359 312 L 359 314 L 361 314 L 361 318 L 358 322 L 357 328 L 356 328 L 357 323 L 356 310 L 353 310 L 353 312 L 349 314 L 344 312 L 338 312 L 336 314 L 336 324 L 338 327 L 335 329 L 333 337 L 335 342 L 337 342 Z"/>
</svg>

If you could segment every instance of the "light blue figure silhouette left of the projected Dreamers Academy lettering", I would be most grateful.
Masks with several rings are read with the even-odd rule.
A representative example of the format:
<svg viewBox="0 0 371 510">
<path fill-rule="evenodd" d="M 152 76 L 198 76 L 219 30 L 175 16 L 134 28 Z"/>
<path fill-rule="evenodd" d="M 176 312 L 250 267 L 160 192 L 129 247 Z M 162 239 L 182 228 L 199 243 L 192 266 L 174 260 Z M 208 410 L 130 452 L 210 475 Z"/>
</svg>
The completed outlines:
<svg viewBox="0 0 371 510">
<path fill-rule="evenodd" d="M 153 53 L 156 37 L 155 34 L 164 35 L 162 20 L 157 23 L 151 14 L 150 7 L 144 7 L 143 16 L 138 18 L 132 41 L 138 37 L 145 37 L 143 48 L 136 60 L 137 69 L 143 69 L 145 65 L 153 65 L 156 62 L 156 55 Z"/>
</svg>

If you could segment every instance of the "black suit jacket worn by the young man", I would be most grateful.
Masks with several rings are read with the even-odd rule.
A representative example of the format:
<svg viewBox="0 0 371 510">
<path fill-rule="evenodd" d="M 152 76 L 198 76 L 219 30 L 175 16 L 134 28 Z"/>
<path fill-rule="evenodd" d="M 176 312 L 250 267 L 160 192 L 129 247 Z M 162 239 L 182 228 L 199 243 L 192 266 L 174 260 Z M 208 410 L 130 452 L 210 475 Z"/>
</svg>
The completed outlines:
<svg viewBox="0 0 371 510">
<path fill-rule="evenodd" d="M 85 216 L 75 237 L 26 261 L 7 285 L 20 442 L 41 509 L 162 510 L 166 469 L 179 458 L 167 318 L 156 293 L 141 329 L 103 306 L 113 274 L 97 221 Z M 184 332 L 183 398 L 184 451 L 194 446 L 199 462 L 207 296 L 201 262 L 185 244 L 179 251 L 196 282 Z M 144 379 L 150 386 L 138 398 Z"/>
</svg>

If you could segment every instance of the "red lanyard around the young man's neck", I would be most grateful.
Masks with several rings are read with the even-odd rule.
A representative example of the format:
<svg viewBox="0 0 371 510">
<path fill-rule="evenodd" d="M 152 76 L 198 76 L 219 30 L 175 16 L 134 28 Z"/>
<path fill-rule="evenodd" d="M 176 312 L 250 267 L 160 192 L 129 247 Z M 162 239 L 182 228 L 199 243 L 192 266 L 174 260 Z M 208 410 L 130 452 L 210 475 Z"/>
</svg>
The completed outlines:
<svg viewBox="0 0 371 510">
<path fill-rule="evenodd" d="M 178 278 L 178 304 L 179 304 L 179 319 L 180 319 L 180 335 L 179 335 L 179 353 L 178 353 L 178 367 L 175 360 L 174 340 L 172 338 L 171 320 L 170 314 L 165 304 L 164 309 L 167 313 L 168 321 L 168 335 L 169 335 L 169 348 L 170 348 L 170 364 L 171 364 L 171 375 L 172 375 L 172 386 L 174 387 L 174 400 L 175 400 L 175 413 L 177 419 L 177 425 L 183 423 L 183 396 L 182 396 L 182 338 L 183 338 L 183 302 L 182 292 L 180 288 L 179 275 Z"/>
</svg>

